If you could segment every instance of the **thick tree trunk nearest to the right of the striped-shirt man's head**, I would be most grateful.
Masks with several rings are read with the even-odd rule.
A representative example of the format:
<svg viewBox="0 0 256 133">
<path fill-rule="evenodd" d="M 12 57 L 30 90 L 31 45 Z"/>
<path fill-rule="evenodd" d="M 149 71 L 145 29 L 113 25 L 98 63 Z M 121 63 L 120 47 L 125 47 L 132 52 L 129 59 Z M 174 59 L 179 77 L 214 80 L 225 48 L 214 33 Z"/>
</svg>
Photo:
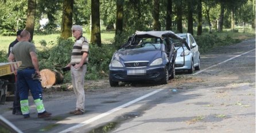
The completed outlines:
<svg viewBox="0 0 256 133">
<path fill-rule="evenodd" d="M 100 37 L 100 14 L 99 14 L 99 0 L 91 0 L 91 43 L 102 46 L 102 40 Z"/>
</svg>

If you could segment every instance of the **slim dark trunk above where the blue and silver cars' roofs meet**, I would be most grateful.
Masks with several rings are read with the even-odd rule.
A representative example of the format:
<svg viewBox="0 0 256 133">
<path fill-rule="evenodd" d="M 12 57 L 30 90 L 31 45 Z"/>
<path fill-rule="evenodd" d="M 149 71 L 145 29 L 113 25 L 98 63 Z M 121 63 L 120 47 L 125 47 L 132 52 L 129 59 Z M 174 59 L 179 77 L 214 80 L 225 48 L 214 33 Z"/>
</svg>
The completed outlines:
<svg viewBox="0 0 256 133">
<path fill-rule="evenodd" d="M 177 31 L 178 33 L 183 33 L 183 27 L 182 27 L 182 1 L 177 1 L 176 3 L 176 11 L 177 11 Z"/>
</svg>

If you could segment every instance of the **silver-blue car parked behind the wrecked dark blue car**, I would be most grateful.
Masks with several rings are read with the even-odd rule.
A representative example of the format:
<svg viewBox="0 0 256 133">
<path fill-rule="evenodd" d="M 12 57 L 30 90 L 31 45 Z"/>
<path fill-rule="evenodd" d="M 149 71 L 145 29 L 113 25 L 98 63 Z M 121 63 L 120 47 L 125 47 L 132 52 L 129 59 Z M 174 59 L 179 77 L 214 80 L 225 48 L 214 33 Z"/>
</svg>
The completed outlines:
<svg viewBox="0 0 256 133">
<path fill-rule="evenodd" d="M 189 74 L 200 70 L 200 52 L 195 39 L 190 33 L 176 34 L 187 41 L 191 50 L 188 50 L 184 44 L 173 42 L 174 48 L 177 50 L 175 60 L 175 71 L 187 71 Z"/>
</svg>

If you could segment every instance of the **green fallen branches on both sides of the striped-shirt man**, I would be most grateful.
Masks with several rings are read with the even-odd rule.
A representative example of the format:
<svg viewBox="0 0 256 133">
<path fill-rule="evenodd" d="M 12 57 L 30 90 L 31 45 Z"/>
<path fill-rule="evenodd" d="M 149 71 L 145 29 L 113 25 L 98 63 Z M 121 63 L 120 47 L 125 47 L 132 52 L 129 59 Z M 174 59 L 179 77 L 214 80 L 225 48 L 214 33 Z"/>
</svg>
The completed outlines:
<svg viewBox="0 0 256 133">
<path fill-rule="evenodd" d="M 61 68 L 65 67 L 71 59 L 73 42 L 71 38 L 68 40 L 58 38 L 56 42 L 48 43 L 45 40 L 40 41 L 42 49 L 37 52 L 40 69 L 50 68 L 61 71 Z M 113 52 L 114 48 L 109 44 L 102 47 L 90 44 L 86 79 L 95 80 L 106 77 Z M 69 72 L 65 72 L 64 76 L 65 81 L 70 80 Z"/>
</svg>

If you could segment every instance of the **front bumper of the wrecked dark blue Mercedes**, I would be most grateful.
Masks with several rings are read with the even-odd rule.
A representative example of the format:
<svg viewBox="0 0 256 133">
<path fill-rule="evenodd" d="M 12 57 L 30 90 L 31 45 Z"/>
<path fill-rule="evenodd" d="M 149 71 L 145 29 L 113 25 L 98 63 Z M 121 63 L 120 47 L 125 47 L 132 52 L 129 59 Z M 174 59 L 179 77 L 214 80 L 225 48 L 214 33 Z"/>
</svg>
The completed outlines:
<svg viewBox="0 0 256 133">
<path fill-rule="evenodd" d="M 154 68 L 145 68 L 145 75 L 127 75 L 127 70 L 131 68 L 124 69 L 113 69 L 110 68 L 110 79 L 112 81 L 159 81 L 165 77 L 165 67 L 154 67 Z M 143 69 L 143 68 L 140 68 Z"/>
</svg>

